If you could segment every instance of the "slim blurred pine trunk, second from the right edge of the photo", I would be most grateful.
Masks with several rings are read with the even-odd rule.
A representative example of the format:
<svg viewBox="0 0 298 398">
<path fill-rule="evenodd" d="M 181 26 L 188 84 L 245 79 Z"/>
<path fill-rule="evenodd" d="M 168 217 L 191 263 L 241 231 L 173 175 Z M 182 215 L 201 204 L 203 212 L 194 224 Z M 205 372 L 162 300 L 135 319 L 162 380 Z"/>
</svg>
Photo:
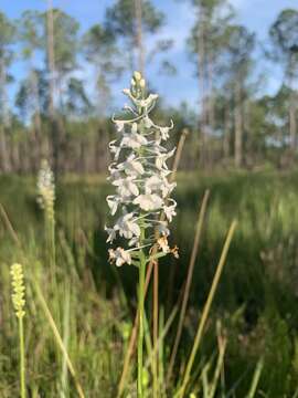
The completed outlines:
<svg viewBox="0 0 298 398">
<path fill-rule="evenodd" d="M 234 122 L 235 122 L 235 166 L 241 167 L 243 161 L 243 123 L 242 123 L 242 98 L 241 98 L 241 82 L 236 80 L 234 85 Z"/>
</svg>

